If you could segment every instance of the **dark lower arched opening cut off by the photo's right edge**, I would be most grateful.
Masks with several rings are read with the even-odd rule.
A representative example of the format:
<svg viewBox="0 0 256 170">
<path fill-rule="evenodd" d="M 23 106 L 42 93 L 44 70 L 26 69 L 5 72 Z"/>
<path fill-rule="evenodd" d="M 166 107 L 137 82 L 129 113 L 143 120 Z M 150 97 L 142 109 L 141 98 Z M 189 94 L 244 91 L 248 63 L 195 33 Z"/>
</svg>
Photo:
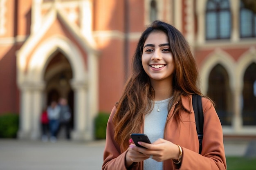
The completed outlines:
<svg viewBox="0 0 256 170">
<path fill-rule="evenodd" d="M 256 63 L 248 66 L 243 86 L 243 125 L 256 125 Z"/>
</svg>

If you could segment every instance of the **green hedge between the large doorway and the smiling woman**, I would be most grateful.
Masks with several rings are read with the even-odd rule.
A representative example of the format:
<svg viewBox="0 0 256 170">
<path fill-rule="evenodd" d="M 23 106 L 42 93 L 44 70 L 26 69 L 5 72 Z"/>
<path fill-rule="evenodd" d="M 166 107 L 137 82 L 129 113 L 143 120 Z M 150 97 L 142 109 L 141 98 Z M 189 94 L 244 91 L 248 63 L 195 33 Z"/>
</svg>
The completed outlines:
<svg viewBox="0 0 256 170">
<path fill-rule="evenodd" d="M 109 113 L 99 113 L 97 117 L 95 117 L 94 125 L 95 125 L 95 138 L 96 139 L 106 139 L 106 128 L 108 123 Z"/>
</svg>

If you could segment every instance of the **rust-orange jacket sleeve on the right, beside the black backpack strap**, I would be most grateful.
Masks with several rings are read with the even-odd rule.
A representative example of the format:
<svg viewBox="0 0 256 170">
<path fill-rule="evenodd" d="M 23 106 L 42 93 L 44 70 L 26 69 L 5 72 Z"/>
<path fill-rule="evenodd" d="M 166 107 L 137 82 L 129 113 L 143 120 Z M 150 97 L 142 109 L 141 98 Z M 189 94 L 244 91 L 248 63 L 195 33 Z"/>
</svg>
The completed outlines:
<svg viewBox="0 0 256 170">
<path fill-rule="evenodd" d="M 183 147 L 180 170 L 226 170 L 220 119 L 209 99 L 203 97 L 202 106 L 204 112 L 202 155 Z"/>
</svg>

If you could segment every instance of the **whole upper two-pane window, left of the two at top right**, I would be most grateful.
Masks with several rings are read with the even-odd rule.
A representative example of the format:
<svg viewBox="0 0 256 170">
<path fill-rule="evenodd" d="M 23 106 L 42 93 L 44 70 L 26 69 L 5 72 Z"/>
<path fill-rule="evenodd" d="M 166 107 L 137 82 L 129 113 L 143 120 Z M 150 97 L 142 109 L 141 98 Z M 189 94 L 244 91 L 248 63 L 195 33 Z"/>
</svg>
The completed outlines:
<svg viewBox="0 0 256 170">
<path fill-rule="evenodd" d="M 229 0 L 208 0 L 206 8 L 206 39 L 228 39 L 231 33 Z"/>
</svg>

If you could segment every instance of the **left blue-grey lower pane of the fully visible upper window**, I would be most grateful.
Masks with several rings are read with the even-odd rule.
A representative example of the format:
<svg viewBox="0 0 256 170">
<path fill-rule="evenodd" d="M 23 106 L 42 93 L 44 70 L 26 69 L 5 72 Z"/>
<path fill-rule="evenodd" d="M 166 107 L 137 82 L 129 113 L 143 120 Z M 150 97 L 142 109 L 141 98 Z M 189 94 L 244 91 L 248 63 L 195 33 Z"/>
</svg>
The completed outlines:
<svg viewBox="0 0 256 170">
<path fill-rule="evenodd" d="M 217 16 L 214 12 L 207 13 L 206 16 L 206 37 L 207 39 L 217 38 L 217 28 L 216 28 Z"/>
</svg>

